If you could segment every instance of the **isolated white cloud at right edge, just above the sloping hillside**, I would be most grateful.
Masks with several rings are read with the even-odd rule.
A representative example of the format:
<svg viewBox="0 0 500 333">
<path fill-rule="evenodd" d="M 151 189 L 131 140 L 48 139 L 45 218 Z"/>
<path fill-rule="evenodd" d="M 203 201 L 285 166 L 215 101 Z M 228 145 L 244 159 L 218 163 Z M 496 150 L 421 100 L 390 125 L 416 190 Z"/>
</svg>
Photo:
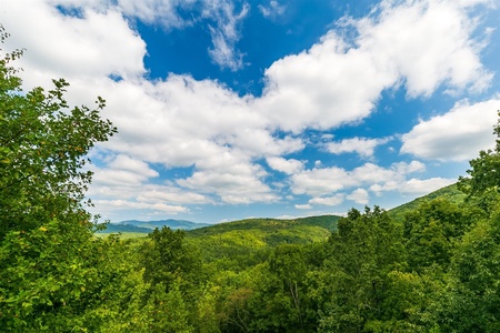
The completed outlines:
<svg viewBox="0 0 500 333">
<path fill-rule="evenodd" d="M 476 104 L 457 103 L 452 110 L 422 120 L 402 137 L 401 153 L 440 161 L 467 161 L 494 147 L 493 124 L 500 99 Z"/>
</svg>

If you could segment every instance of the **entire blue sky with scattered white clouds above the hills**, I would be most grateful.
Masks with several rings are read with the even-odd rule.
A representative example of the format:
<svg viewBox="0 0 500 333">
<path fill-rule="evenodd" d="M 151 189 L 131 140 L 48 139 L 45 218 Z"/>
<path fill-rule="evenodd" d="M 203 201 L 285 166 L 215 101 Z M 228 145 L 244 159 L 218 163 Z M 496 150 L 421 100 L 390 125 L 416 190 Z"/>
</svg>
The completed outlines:
<svg viewBox="0 0 500 333">
<path fill-rule="evenodd" d="M 466 175 L 500 110 L 500 1 L 0 0 L 23 88 L 64 78 L 119 133 L 101 219 L 391 209 Z M 2 51 L 3 52 L 3 51 Z"/>
</svg>

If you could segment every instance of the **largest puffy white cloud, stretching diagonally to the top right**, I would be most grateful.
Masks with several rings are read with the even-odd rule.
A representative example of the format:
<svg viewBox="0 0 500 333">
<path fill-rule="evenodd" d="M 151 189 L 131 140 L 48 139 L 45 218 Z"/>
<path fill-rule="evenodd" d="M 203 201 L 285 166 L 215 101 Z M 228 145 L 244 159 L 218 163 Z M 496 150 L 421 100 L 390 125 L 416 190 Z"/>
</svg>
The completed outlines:
<svg viewBox="0 0 500 333">
<path fill-rule="evenodd" d="M 474 19 L 452 0 L 384 1 L 374 14 L 346 20 L 349 41 L 329 31 L 307 51 L 266 70 L 261 112 L 283 130 L 330 129 L 368 117 L 383 90 L 411 98 L 439 87 L 480 90 L 491 79 L 471 36 Z"/>
</svg>

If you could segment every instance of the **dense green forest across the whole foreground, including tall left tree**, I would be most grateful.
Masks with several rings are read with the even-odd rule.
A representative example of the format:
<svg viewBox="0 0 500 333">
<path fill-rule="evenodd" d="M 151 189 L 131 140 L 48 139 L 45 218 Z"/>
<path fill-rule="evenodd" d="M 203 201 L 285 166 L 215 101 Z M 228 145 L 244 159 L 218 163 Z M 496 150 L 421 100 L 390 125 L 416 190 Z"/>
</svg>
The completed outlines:
<svg viewBox="0 0 500 333">
<path fill-rule="evenodd" d="M 0 331 L 500 332 L 500 140 L 390 212 L 98 238 L 82 167 L 117 129 L 63 80 L 23 92 L 21 56 L 0 59 Z"/>
</svg>

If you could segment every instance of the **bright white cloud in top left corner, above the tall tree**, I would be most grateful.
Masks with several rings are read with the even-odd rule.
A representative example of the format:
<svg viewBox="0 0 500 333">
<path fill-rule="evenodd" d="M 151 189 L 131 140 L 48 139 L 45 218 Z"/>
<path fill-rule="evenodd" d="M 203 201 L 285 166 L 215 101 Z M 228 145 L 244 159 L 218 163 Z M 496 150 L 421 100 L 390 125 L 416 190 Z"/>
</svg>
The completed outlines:
<svg viewBox="0 0 500 333">
<path fill-rule="evenodd" d="M 83 18 L 74 18 L 43 1 L 3 1 L 2 13 L 2 24 L 12 34 L 6 46 L 27 48 L 19 64 L 29 70 L 23 78 L 30 87 L 58 77 L 91 81 L 111 74 L 133 79 L 146 72 L 146 43 L 117 11 L 86 10 Z"/>
</svg>

